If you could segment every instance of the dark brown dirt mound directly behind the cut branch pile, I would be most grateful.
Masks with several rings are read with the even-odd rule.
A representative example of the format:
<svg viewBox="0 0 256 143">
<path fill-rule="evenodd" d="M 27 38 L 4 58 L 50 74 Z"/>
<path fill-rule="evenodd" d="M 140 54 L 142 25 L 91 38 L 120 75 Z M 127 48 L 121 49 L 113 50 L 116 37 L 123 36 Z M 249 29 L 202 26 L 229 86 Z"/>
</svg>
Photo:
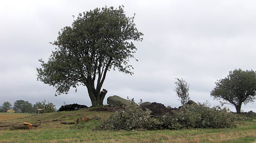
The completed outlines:
<svg viewBox="0 0 256 143">
<path fill-rule="evenodd" d="M 169 112 L 170 114 L 174 114 L 172 109 L 168 109 L 164 106 L 164 104 L 153 102 L 149 105 L 143 106 L 143 109 L 149 109 L 151 111 L 150 115 L 160 116 L 164 113 Z"/>
</svg>

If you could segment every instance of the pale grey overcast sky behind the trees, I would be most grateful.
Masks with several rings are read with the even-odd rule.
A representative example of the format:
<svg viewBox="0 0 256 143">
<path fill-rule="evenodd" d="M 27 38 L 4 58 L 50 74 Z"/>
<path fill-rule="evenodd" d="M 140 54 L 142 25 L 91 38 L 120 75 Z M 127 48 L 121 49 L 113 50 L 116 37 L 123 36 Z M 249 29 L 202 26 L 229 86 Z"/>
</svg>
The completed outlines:
<svg viewBox="0 0 256 143">
<path fill-rule="evenodd" d="M 228 72 L 241 68 L 256 70 L 256 1 L 236 0 L 102 0 L 102 1 L 1 1 L 0 2 L 0 105 L 16 100 L 32 104 L 46 100 L 57 109 L 66 104 L 91 106 L 86 87 L 54 97 L 55 89 L 36 81 L 38 59 L 47 61 L 58 32 L 70 26 L 79 12 L 105 5 L 124 5 L 143 41 L 131 60 L 134 75 L 118 71 L 107 73 L 103 88 L 107 97 L 140 99 L 165 106 L 179 107 L 173 91 L 175 78 L 183 78 L 195 102 L 213 100 L 215 82 Z M 235 107 L 226 104 L 231 111 Z M 242 105 L 244 111 L 256 111 L 255 104 Z"/>
</svg>

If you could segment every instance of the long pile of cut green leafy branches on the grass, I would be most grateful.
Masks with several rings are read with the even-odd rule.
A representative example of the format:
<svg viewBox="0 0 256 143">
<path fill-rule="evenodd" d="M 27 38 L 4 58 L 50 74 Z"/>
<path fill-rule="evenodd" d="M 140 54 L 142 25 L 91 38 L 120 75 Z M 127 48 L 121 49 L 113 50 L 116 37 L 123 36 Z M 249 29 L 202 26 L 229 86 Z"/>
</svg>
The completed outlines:
<svg viewBox="0 0 256 143">
<path fill-rule="evenodd" d="M 187 105 L 173 115 L 165 113 L 158 117 L 152 117 L 150 116 L 150 110 L 143 110 L 141 104 L 136 105 L 133 102 L 134 99 L 129 100 L 125 109 L 116 111 L 106 122 L 93 129 L 93 131 L 230 128 L 236 126 L 235 120 L 249 120 L 249 118 L 228 113 L 226 108 L 221 109 L 220 106 L 211 108 L 209 103 Z"/>
</svg>

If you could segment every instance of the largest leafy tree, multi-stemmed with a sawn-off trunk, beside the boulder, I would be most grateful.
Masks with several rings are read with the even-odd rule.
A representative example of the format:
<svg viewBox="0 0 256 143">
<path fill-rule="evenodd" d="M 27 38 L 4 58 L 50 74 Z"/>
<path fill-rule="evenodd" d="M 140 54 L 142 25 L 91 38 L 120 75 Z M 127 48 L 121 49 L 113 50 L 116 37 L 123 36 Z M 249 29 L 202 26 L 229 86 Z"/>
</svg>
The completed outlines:
<svg viewBox="0 0 256 143">
<path fill-rule="evenodd" d="M 49 60 L 39 60 L 37 80 L 56 88 L 58 95 L 68 94 L 70 87 L 86 86 L 92 106 L 103 105 L 107 90 L 101 88 L 107 71 L 133 74 L 129 59 L 137 48 L 132 40 L 142 41 L 143 35 L 133 19 L 126 17 L 123 6 L 80 13 L 72 26 L 59 32 Z"/>
</svg>

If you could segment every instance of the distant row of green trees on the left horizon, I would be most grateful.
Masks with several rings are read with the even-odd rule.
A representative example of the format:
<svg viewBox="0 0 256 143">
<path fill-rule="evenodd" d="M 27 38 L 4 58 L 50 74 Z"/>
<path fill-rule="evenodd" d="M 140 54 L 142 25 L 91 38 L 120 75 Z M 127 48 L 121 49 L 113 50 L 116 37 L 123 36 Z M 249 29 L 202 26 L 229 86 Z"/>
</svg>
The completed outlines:
<svg viewBox="0 0 256 143">
<path fill-rule="evenodd" d="M 6 112 L 11 106 L 12 104 L 10 102 L 4 102 L 0 112 Z M 13 104 L 13 110 L 18 113 L 37 113 L 37 109 L 43 109 L 40 113 L 49 113 L 54 112 L 56 107 L 53 103 L 46 103 L 45 100 L 42 102 L 36 102 L 34 105 L 24 100 L 16 100 Z"/>
</svg>

